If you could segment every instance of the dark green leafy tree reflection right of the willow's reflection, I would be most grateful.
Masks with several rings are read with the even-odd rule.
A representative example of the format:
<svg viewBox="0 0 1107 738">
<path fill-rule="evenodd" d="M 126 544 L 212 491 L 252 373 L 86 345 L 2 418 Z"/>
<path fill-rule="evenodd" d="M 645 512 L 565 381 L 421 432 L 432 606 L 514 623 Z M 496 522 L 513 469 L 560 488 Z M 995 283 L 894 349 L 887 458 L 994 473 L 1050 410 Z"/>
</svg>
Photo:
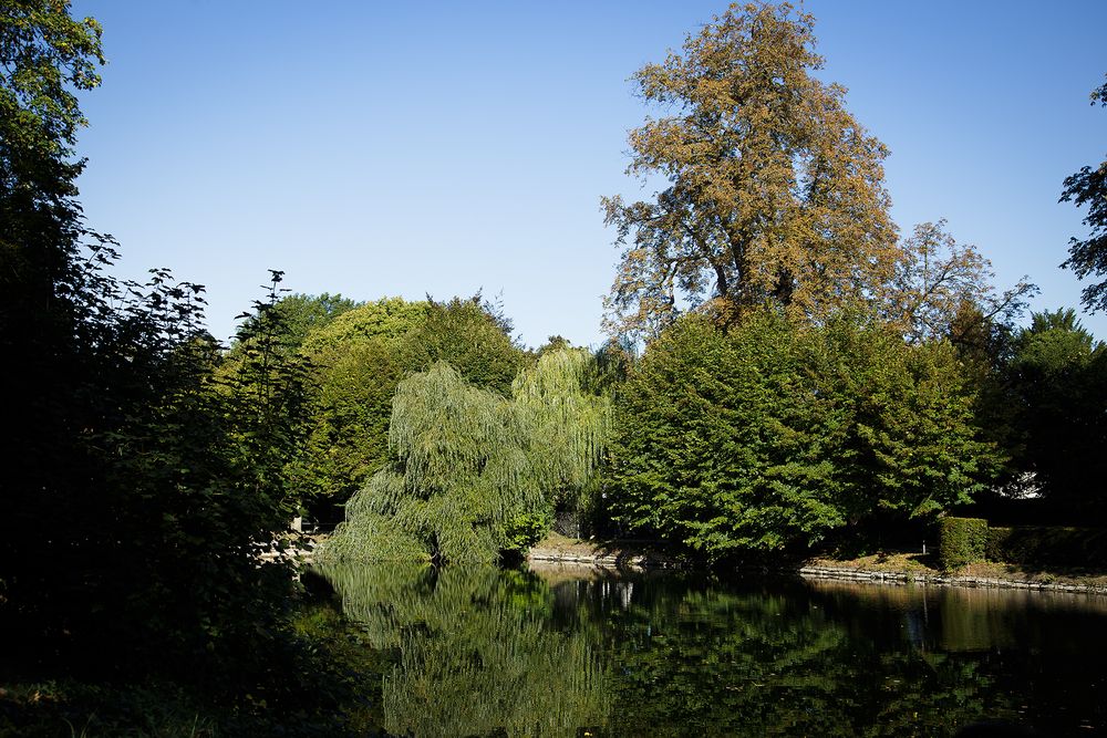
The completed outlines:
<svg viewBox="0 0 1107 738">
<path fill-rule="evenodd" d="M 977 664 L 878 645 L 801 584 L 679 589 L 612 611 L 624 735 L 932 736 L 1012 716 Z"/>
</svg>

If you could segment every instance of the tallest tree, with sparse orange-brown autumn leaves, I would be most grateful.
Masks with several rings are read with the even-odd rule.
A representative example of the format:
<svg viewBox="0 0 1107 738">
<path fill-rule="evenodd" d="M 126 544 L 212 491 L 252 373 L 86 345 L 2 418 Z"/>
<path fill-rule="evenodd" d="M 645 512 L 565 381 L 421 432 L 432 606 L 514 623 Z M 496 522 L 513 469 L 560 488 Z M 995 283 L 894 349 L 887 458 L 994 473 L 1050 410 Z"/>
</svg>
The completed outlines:
<svg viewBox="0 0 1107 738">
<path fill-rule="evenodd" d="M 821 318 L 883 289 L 897 256 L 887 150 L 813 72 L 814 19 L 732 6 L 634 80 L 676 115 L 632 131 L 628 174 L 669 186 L 603 199 L 625 245 L 609 328 L 654 334 L 682 302 L 727 322 L 766 300 Z"/>
</svg>

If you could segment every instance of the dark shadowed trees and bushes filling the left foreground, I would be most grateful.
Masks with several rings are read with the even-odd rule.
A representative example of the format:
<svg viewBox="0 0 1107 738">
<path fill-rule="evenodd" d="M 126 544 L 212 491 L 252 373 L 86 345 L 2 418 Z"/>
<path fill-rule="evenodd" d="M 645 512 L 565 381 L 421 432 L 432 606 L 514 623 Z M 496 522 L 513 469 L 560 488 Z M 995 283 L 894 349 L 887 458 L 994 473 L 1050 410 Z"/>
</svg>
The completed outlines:
<svg viewBox="0 0 1107 738">
<path fill-rule="evenodd" d="M 83 226 L 73 93 L 97 82 L 99 25 L 3 2 L 0 56 L 0 677 L 168 679 L 241 715 L 325 704 L 296 676 L 313 657 L 291 571 L 258 562 L 283 547 L 302 427 L 276 284 L 229 375 L 203 289 L 111 277 L 114 242 Z"/>
</svg>

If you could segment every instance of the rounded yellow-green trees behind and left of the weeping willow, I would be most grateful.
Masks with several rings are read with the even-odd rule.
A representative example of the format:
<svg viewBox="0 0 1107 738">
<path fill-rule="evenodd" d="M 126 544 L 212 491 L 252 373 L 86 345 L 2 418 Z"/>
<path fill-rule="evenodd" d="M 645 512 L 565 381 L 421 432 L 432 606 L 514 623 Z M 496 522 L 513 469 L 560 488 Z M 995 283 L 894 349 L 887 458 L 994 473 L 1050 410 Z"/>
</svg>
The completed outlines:
<svg viewBox="0 0 1107 738">
<path fill-rule="evenodd" d="M 508 393 L 526 361 L 508 329 L 476 295 L 444 303 L 386 298 L 308 333 L 300 353 L 313 366 L 310 433 L 288 472 L 312 517 L 340 518 L 339 506 L 387 460 L 392 397 L 404 377 L 447 361 L 476 386 Z"/>
</svg>

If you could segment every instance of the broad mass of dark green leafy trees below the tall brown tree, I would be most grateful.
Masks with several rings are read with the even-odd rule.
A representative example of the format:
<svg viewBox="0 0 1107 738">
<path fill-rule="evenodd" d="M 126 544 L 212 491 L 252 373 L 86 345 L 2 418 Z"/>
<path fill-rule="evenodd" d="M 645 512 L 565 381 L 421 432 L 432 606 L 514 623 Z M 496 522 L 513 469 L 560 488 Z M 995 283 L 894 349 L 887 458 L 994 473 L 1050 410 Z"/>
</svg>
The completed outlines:
<svg viewBox="0 0 1107 738">
<path fill-rule="evenodd" d="M 765 312 L 723 333 L 690 318 L 621 392 L 612 512 L 711 557 L 811 544 L 877 511 L 928 518 L 989 474 L 972 391 L 944 343 L 840 318 Z"/>
</svg>

